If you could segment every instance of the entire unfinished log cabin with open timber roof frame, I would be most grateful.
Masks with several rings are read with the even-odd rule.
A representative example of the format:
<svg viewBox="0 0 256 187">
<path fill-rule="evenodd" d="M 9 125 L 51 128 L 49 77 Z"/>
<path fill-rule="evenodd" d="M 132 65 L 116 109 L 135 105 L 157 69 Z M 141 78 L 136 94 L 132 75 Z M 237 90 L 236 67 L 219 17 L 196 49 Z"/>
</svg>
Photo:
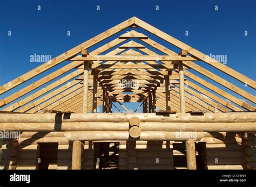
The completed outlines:
<svg viewBox="0 0 256 187">
<path fill-rule="evenodd" d="M 256 87 L 136 17 L 2 85 L 1 95 L 63 64 L 0 99 L 0 131 L 21 132 L 3 139 L 1 169 L 255 169 L 255 96 L 198 61 Z"/>
</svg>

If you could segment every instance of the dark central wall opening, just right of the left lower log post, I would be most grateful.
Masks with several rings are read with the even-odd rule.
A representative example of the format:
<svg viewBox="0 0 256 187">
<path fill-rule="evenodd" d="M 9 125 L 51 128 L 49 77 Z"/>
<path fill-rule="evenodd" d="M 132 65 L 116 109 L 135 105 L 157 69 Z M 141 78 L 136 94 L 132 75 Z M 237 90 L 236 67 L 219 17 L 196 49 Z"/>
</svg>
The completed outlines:
<svg viewBox="0 0 256 187">
<path fill-rule="evenodd" d="M 95 169 L 118 169 L 119 142 L 93 142 Z"/>
</svg>

